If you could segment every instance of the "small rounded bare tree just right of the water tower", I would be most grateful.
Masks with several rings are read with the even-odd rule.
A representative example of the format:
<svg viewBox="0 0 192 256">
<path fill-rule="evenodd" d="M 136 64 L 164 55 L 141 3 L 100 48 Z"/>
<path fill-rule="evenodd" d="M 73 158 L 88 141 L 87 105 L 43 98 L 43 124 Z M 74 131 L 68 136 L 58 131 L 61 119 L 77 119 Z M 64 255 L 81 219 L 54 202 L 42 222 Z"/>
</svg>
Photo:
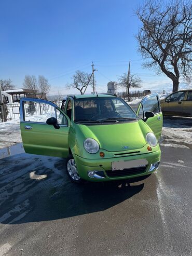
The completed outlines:
<svg viewBox="0 0 192 256">
<path fill-rule="evenodd" d="M 122 74 L 119 77 L 119 86 L 122 88 L 127 88 L 129 95 L 130 88 L 141 88 L 141 79 L 136 75 L 130 75 L 128 78 L 127 73 Z"/>
</svg>

